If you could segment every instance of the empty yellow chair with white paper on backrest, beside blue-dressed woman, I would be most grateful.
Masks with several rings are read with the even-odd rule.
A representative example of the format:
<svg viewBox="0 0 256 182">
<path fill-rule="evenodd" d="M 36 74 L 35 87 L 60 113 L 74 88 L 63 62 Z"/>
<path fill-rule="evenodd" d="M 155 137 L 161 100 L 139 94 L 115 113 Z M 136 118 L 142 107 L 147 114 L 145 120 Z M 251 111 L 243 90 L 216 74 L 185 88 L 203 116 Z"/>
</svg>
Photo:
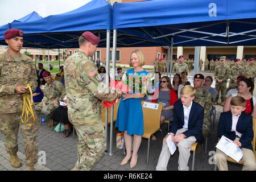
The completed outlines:
<svg viewBox="0 0 256 182">
<path fill-rule="evenodd" d="M 148 105 L 156 106 L 157 109 L 148 108 Z M 143 119 L 144 119 L 144 134 L 143 138 L 147 138 L 147 164 L 149 158 L 149 150 L 150 150 L 150 138 L 151 135 L 156 133 L 156 131 L 160 130 L 160 117 L 162 111 L 162 104 L 157 104 L 154 102 L 145 102 L 142 101 L 142 111 L 143 111 Z M 161 132 L 162 135 L 162 132 Z"/>
</svg>

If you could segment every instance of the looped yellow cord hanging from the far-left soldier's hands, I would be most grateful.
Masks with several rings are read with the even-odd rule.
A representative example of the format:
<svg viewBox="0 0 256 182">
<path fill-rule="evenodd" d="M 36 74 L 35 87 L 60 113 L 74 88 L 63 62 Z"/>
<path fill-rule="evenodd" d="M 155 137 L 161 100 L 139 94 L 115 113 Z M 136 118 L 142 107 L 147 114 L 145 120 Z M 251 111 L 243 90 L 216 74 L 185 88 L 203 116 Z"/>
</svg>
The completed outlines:
<svg viewBox="0 0 256 182">
<path fill-rule="evenodd" d="M 21 121 L 23 123 L 26 123 L 27 126 L 33 126 L 34 122 L 36 122 L 36 119 L 35 119 L 34 111 L 32 109 L 32 105 L 33 105 L 32 90 L 31 90 L 30 84 L 27 84 L 27 86 L 25 88 L 30 90 L 30 92 L 25 93 L 25 94 L 22 95 L 22 97 L 23 97 L 23 109 L 22 109 Z M 31 124 L 28 123 L 29 118 L 33 119 L 33 123 L 31 123 Z"/>
</svg>

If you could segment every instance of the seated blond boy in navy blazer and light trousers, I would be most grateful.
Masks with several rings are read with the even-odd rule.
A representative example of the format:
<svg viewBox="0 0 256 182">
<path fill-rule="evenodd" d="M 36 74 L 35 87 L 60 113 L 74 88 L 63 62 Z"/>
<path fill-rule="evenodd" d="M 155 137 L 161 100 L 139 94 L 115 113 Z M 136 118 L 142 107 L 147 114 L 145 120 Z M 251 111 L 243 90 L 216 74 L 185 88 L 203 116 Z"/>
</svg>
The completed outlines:
<svg viewBox="0 0 256 182">
<path fill-rule="evenodd" d="M 193 99 L 196 90 L 191 85 L 185 85 L 180 90 L 180 100 L 174 104 L 174 122 L 168 131 L 172 140 L 177 142 L 179 149 L 179 171 L 189 169 L 188 160 L 191 151 L 191 145 L 203 140 L 202 127 L 204 122 L 204 107 L 197 104 Z M 157 171 L 166 171 L 171 152 L 166 140 L 163 142 L 161 154 L 158 159 Z"/>
</svg>

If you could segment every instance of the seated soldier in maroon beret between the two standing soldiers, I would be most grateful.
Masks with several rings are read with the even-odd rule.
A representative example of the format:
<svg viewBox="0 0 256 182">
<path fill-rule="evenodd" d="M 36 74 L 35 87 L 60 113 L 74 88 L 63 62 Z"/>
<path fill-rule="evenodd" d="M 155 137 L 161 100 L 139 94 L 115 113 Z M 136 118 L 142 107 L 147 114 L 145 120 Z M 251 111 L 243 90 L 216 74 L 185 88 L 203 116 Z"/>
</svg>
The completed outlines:
<svg viewBox="0 0 256 182">
<path fill-rule="evenodd" d="M 51 118 L 53 111 L 60 106 L 59 101 L 64 101 L 66 93 L 63 84 L 53 80 L 50 72 L 44 71 L 43 78 L 46 80 L 46 85 L 42 87 L 44 97 L 42 102 L 36 105 L 36 113 L 42 113 L 46 118 Z"/>
</svg>

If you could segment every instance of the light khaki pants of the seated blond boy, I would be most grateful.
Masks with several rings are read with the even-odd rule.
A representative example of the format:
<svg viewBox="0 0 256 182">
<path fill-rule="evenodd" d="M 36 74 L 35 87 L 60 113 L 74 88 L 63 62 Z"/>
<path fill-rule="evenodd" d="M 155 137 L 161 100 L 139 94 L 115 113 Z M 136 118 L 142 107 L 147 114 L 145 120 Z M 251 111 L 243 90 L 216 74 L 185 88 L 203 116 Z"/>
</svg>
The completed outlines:
<svg viewBox="0 0 256 182">
<path fill-rule="evenodd" d="M 177 130 L 175 135 L 178 135 L 180 133 L 184 133 L 184 131 L 187 131 L 188 129 L 179 129 Z M 179 171 L 188 171 L 188 160 L 190 156 L 191 151 L 191 145 L 196 142 L 195 137 L 188 137 L 181 140 L 181 142 L 177 143 L 177 147 L 179 150 L 179 160 L 178 160 L 178 170 Z M 168 148 L 166 140 L 163 142 L 162 151 L 160 153 L 159 159 L 158 159 L 158 165 L 156 166 L 156 171 L 166 171 L 168 161 L 170 159 L 171 152 Z"/>
</svg>

